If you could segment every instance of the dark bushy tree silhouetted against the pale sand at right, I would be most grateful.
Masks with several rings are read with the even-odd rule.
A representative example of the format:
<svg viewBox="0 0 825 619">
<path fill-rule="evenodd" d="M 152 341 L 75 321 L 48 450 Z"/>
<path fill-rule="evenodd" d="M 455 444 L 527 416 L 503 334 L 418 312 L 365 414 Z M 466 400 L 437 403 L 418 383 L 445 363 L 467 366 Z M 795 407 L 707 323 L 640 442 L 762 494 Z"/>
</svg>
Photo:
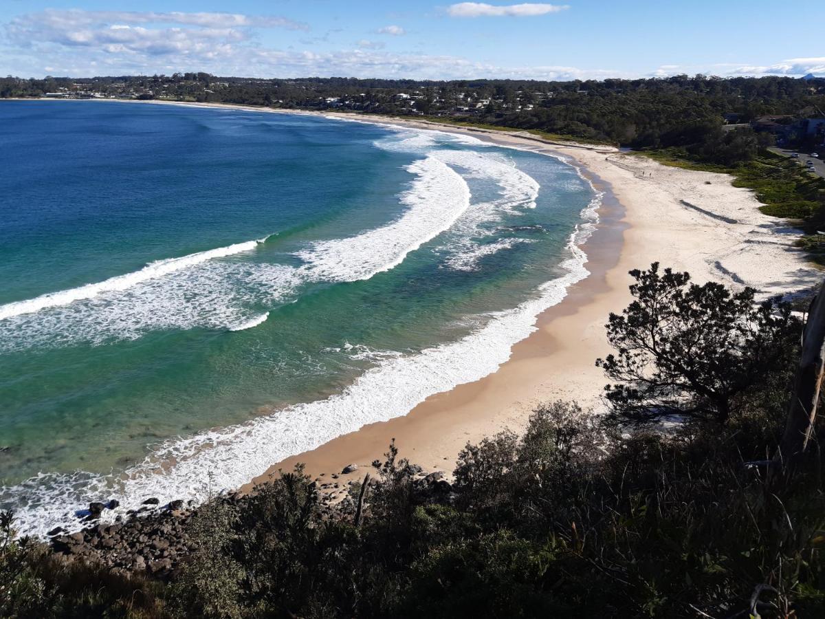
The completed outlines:
<svg viewBox="0 0 825 619">
<path fill-rule="evenodd" d="M 596 360 L 613 418 L 641 425 L 662 418 L 728 422 L 738 396 L 788 366 L 801 325 L 790 305 L 756 291 L 690 283 L 687 273 L 630 272 L 634 301 L 610 314 L 615 354 Z"/>
</svg>

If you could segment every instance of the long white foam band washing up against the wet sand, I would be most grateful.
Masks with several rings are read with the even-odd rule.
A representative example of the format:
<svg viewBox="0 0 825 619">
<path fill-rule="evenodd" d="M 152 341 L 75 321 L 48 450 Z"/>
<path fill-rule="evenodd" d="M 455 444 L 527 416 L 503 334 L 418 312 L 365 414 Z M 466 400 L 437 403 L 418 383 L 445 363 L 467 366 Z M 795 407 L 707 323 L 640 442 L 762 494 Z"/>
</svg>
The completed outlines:
<svg viewBox="0 0 825 619">
<path fill-rule="evenodd" d="M 402 416 L 430 395 L 488 376 L 507 361 L 513 344 L 535 330 L 536 316 L 559 303 L 568 286 L 588 275 L 587 256 L 578 246 L 594 229 L 600 201 L 598 194 L 582 211 L 586 223 L 571 236 L 570 258 L 560 265 L 564 274 L 540 286 L 533 298 L 515 309 L 488 314 L 484 324 L 466 337 L 386 358 L 328 399 L 167 441 L 123 475 L 38 475 L 0 489 L 0 503 L 15 508 L 22 532 L 43 536 L 58 525 L 78 527 L 67 505 L 80 508 L 92 500 L 118 499 L 120 508 L 104 512 L 104 517 L 112 518 L 138 508 L 149 496 L 158 497 L 162 504 L 173 499 L 202 502 L 210 492 L 235 489 L 262 475 L 273 462 L 367 423 Z"/>
</svg>

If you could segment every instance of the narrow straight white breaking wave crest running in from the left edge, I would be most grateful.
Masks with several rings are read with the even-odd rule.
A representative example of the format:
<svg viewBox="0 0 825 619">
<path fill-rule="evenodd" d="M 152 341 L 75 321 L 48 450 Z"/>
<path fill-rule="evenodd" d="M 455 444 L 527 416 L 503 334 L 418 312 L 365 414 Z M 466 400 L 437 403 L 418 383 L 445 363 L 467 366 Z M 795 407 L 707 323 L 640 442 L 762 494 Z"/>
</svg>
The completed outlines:
<svg viewBox="0 0 825 619">
<path fill-rule="evenodd" d="M 86 284 L 85 286 L 78 286 L 78 288 L 70 288 L 65 291 L 48 292 L 45 295 L 37 296 L 34 299 L 13 301 L 12 303 L 0 305 L 0 320 L 9 319 L 13 316 L 20 316 L 21 314 L 33 314 L 40 311 L 40 309 L 57 307 L 59 305 L 68 305 L 78 300 L 92 299 L 93 297 L 100 295 L 101 292 L 125 291 L 142 281 L 163 277 L 169 273 L 180 271 L 181 269 L 188 267 L 193 267 L 196 264 L 206 262 L 207 260 L 224 258 L 226 256 L 232 256 L 235 253 L 252 251 L 252 249 L 256 248 L 259 243 L 264 243 L 269 236 L 254 241 L 234 243 L 233 245 L 228 245 L 227 247 L 209 249 L 205 252 L 191 253 L 187 256 L 181 256 L 181 258 L 166 258 L 164 260 L 149 262 L 139 271 L 110 277 L 107 280 L 99 281 L 94 284 Z"/>
</svg>

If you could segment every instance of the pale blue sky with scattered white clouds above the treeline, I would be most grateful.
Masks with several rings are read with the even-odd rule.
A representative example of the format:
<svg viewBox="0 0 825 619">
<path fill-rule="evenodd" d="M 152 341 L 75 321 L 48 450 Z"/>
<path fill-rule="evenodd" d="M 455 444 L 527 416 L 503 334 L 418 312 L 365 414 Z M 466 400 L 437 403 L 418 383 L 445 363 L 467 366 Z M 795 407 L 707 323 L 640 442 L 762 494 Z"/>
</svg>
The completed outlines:
<svg viewBox="0 0 825 619">
<path fill-rule="evenodd" d="M 0 0 L 0 74 L 825 76 L 821 0 L 563 2 Z"/>
</svg>

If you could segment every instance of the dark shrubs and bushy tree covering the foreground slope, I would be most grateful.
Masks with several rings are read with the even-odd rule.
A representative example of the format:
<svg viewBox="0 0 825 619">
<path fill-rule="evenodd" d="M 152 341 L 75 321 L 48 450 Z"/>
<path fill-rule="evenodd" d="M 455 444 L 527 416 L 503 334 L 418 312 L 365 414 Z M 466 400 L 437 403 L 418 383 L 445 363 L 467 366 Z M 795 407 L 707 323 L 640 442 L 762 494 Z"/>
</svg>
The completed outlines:
<svg viewBox="0 0 825 619">
<path fill-rule="evenodd" d="M 540 406 L 520 436 L 468 444 L 451 484 L 422 477 L 390 445 L 337 518 L 300 466 L 282 472 L 243 502 L 201 508 L 190 531 L 199 550 L 170 584 L 76 565 L 69 588 L 65 568 L 10 541 L 7 525 L 0 614 L 823 617 L 821 455 L 808 450 L 790 478 L 766 461 L 785 421 L 798 321 L 785 305 L 754 309 L 749 293 L 691 286 L 655 265 L 634 276 L 633 304 L 608 325 L 615 360 L 641 350 L 629 342 L 647 354 L 667 347 L 654 365 L 674 390 L 606 362 L 623 385 L 609 388 L 621 395 L 612 401 L 634 404 L 621 415 Z M 730 381 L 724 406 L 719 388 L 705 389 Z M 625 397 L 633 390 L 645 406 Z M 674 403 L 683 423 L 647 425 L 650 410 Z M 641 427 L 628 435 L 619 418 Z"/>
</svg>

